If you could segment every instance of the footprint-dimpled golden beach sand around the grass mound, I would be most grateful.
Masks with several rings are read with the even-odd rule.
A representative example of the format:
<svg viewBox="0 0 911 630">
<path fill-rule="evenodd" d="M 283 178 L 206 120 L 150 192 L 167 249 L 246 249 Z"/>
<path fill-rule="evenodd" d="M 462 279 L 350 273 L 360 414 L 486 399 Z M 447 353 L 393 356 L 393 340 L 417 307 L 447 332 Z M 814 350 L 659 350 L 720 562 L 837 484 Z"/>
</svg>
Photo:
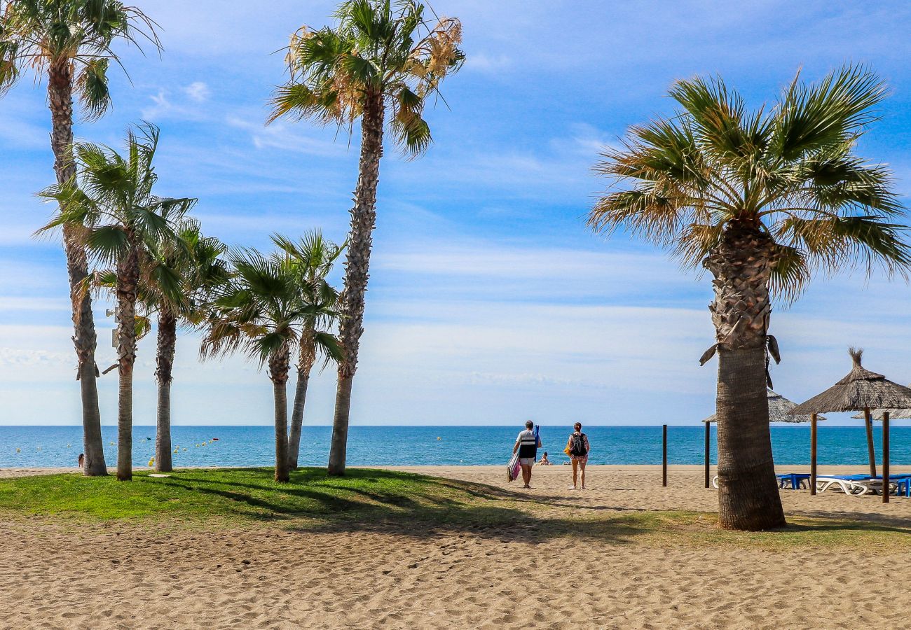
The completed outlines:
<svg viewBox="0 0 911 630">
<path fill-rule="evenodd" d="M 598 514 L 715 512 L 698 466 L 671 467 L 667 488 L 660 467 L 591 466 L 584 492 L 568 490 L 568 466 L 536 468 L 531 491 L 507 485 L 502 466 L 396 470 L 498 486 L 567 523 L 298 532 L 5 522 L 0 629 L 909 625 L 906 551 L 638 540 L 633 526 L 584 535 Z M 789 516 L 911 521 L 907 499 L 782 495 Z M 573 527 L 581 535 L 566 535 Z"/>
</svg>

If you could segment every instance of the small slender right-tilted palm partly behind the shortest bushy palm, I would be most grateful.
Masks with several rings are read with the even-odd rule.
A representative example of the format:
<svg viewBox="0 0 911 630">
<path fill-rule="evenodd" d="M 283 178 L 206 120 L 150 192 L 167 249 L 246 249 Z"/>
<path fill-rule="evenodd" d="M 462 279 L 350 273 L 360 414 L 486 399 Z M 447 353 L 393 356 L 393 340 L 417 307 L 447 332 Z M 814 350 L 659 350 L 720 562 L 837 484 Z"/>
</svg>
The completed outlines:
<svg viewBox="0 0 911 630">
<path fill-rule="evenodd" d="M 342 255 L 344 245 L 336 245 L 331 240 L 323 239 L 320 230 L 305 234 L 297 243 L 275 235 L 274 242 L 294 266 L 298 274 L 298 286 L 304 293 L 303 300 L 312 304 L 322 304 L 328 309 L 335 309 L 338 304 L 338 291 L 329 284 L 326 276 L 333 269 L 335 260 Z M 324 359 L 323 365 L 343 360 L 342 348 L 338 339 L 330 330 L 323 330 L 334 324 L 334 318 L 309 316 L 302 321 L 301 342 L 297 360 L 297 385 L 294 390 L 294 405 L 291 414 L 291 432 L 288 436 L 288 466 L 297 468 L 301 452 L 301 429 L 303 426 L 303 408 L 307 401 L 307 385 L 313 363 L 319 355 Z"/>
</svg>

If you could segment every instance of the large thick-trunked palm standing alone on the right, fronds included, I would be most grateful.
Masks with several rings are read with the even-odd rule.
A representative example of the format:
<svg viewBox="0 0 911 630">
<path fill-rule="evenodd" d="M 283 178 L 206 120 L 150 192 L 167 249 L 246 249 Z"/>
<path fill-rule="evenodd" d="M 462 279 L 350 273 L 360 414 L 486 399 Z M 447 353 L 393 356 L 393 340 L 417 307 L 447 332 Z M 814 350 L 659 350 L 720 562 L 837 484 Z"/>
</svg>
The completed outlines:
<svg viewBox="0 0 911 630">
<path fill-rule="evenodd" d="M 748 110 L 721 78 L 679 81 L 681 110 L 632 127 L 597 169 L 617 186 L 591 210 L 593 229 L 623 228 L 711 271 L 718 354 L 722 527 L 784 524 L 766 398 L 773 298 L 796 299 L 814 271 L 863 263 L 904 270 L 911 250 L 889 171 L 855 144 L 885 85 L 844 66 L 819 83 L 795 77 L 774 107 Z"/>
</svg>

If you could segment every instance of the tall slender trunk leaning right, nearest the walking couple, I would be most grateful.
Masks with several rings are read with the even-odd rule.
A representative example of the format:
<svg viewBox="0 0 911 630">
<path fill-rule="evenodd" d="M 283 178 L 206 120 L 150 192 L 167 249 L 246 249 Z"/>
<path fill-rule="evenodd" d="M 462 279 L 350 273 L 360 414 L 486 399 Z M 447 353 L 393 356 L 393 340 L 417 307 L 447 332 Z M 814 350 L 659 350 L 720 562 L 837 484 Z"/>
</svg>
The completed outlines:
<svg viewBox="0 0 911 630">
<path fill-rule="evenodd" d="M 370 250 L 376 223 L 376 186 L 383 157 L 383 96 L 366 97 L 361 119 L 360 176 L 351 210 L 351 233 L 345 257 L 339 341 L 344 359 L 339 363 L 335 394 L 333 442 L 329 451 L 329 474 L 344 474 L 351 413 L 351 389 L 357 370 L 357 351 L 363 334 L 363 302 L 367 291 Z"/>
</svg>

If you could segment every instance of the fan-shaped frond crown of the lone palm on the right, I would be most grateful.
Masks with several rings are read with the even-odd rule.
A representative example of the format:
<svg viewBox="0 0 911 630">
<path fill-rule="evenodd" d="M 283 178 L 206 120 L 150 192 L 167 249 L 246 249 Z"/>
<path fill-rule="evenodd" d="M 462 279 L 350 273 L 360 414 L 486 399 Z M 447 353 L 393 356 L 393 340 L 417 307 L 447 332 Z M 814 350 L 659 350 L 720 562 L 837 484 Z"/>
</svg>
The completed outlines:
<svg viewBox="0 0 911 630">
<path fill-rule="evenodd" d="M 625 229 L 698 267 L 725 229 L 773 239 L 773 294 L 796 299 L 815 271 L 911 268 L 905 208 L 882 165 L 855 155 L 885 85 L 844 66 L 795 79 L 775 107 L 751 110 L 721 78 L 675 83 L 681 110 L 631 127 L 596 166 L 612 179 L 589 226 Z"/>
</svg>

